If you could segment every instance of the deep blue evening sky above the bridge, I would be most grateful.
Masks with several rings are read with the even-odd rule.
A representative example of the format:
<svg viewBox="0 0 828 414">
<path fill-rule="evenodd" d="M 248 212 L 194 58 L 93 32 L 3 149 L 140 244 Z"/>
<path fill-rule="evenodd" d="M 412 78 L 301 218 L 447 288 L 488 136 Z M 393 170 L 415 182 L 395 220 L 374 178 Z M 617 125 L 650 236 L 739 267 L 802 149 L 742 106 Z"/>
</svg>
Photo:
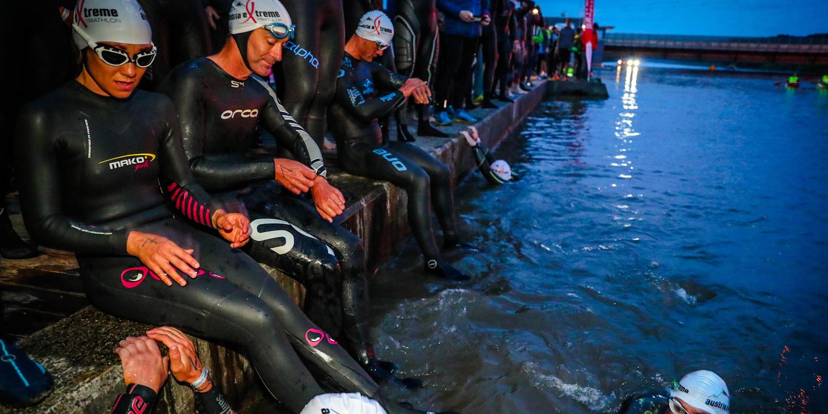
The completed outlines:
<svg viewBox="0 0 828 414">
<path fill-rule="evenodd" d="M 583 0 L 537 0 L 544 16 L 581 17 Z M 806 36 L 828 33 L 828 0 L 595 0 L 595 22 L 618 33 Z"/>
</svg>

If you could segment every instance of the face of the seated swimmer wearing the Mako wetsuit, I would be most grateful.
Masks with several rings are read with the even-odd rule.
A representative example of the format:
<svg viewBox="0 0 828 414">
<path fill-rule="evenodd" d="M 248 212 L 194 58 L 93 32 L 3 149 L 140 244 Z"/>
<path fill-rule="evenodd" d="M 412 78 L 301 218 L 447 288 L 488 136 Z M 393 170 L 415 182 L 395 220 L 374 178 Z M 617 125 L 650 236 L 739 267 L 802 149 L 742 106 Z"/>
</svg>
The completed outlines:
<svg viewBox="0 0 828 414">
<path fill-rule="evenodd" d="M 125 51 L 133 58 L 139 52 L 152 51 L 152 45 L 149 44 L 133 45 L 113 41 L 99 41 L 98 43 Z M 78 75 L 77 79 L 95 94 L 118 99 L 129 98 L 144 73 L 147 72 L 147 68 L 139 68 L 134 62 L 127 62 L 120 66 L 107 65 L 90 47 L 84 49 L 84 53 L 86 54 L 86 63 L 84 64 L 84 70 Z"/>
</svg>

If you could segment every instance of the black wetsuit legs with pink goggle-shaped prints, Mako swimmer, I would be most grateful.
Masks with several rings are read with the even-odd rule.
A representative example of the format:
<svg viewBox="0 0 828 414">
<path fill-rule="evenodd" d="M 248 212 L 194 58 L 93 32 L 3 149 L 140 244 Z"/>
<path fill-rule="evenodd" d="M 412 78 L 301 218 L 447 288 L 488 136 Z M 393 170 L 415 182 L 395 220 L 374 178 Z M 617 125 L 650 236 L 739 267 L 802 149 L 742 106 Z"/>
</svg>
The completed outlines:
<svg viewBox="0 0 828 414">
<path fill-rule="evenodd" d="M 187 277 L 186 286 L 166 286 L 137 258 L 79 257 L 84 290 L 94 306 L 129 320 L 176 326 L 245 351 L 267 388 L 292 412 L 323 392 L 296 352 L 338 388 L 376 394 L 377 385 L 368 374 L 252 258 L 173 219 L 137 230 L 194 248 L 204 273 Z"/>
</svg>

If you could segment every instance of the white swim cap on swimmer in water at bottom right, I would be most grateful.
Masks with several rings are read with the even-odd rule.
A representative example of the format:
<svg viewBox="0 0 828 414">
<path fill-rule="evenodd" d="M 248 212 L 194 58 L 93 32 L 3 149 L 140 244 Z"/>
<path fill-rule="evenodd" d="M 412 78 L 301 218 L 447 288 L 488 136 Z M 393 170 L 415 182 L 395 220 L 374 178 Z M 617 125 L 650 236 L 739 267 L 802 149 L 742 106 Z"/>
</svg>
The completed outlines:
<svg viewBox="0 0 828 414">
<path fill-rule="evenodd" d="M 681 378 L 676 389 L 670 392 L 670 397 L 681 398 L 681 401 L 710 414 L 730 413 L 727 384 L 720 376 L 706 369 L 688 373 Z"/>
</svg>

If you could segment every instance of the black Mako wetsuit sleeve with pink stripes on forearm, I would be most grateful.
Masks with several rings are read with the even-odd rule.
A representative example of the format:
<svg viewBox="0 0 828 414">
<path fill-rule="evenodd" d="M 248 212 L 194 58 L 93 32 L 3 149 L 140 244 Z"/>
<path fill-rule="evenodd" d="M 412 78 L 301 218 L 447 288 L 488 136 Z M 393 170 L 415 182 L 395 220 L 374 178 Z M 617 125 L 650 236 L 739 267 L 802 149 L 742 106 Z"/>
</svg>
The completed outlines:
<svg viewBox="0 0 828 414">
<path fill-rule="evenodd" d="M 181 127 L 178 124 L 176 111 L 169 99 L 166 103 L 166 134 L 159 142 L 159 158 L 161 161 L 161 182 L 165 185 L 166 195 L 170 197 L 176 209 L 184 213 L 187 218 L 207 227 L 212 227 L 214 205 L 207 192 L 195 182 L 187 157 L 181 143 Z"/>
</svg>

